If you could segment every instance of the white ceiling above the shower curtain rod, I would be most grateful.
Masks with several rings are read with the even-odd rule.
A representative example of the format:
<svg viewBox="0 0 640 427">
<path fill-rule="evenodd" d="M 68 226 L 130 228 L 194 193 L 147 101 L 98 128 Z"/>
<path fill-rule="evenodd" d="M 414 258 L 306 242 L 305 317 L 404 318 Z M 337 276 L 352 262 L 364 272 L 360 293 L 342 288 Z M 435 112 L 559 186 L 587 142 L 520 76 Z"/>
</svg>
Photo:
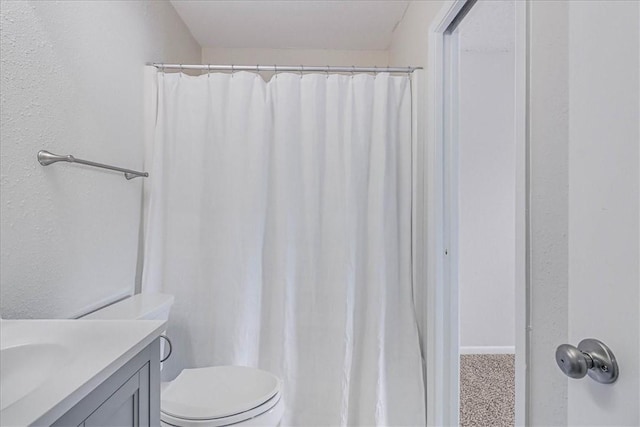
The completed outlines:
<svg viewBox="0 0 640 427">
<path fill-rule="evenodd" d="M 386 50 L 409 1 L 171 0 L 202 47 Z"/>
</svg>

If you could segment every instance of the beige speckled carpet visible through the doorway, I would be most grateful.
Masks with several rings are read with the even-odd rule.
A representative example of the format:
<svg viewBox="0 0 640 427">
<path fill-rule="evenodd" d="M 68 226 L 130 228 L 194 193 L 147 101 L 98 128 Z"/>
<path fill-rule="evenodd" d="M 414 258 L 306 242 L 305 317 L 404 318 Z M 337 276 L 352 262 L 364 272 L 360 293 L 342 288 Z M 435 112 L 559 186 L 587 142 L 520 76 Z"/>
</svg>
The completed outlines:
<svg viewBox="0 0 640 427">
<path fill-rule="evenodd" d="M 460 356 L 460 425 L 514 425 L 513 354 Z"/>
</svg>

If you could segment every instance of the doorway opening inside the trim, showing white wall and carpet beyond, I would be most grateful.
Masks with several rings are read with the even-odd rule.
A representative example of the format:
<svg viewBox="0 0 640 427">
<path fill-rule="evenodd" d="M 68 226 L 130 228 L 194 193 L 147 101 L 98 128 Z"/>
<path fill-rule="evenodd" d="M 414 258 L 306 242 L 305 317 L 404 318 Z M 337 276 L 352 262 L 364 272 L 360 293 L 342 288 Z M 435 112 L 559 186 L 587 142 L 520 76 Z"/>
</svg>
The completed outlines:
<svg viewBox="0 0 640 427">
<path fill-rule="evenodd" d="M 457 45 L 448 216 L 463 427 L 515 421 L 515 12 L 513 0 L 478 1 L 445 35 Z"/>
</svg>

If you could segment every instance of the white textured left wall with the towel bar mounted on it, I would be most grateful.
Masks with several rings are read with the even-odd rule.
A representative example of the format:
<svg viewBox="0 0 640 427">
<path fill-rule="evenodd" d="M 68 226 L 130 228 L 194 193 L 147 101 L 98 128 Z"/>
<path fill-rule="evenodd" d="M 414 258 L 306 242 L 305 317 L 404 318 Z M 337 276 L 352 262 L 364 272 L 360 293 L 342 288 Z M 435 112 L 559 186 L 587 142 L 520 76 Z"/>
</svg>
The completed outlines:
<svg viewBox="0 0 640 427">
<path fill-rule="evenodd" d="M 0 314 L 64 318 L 133 290 L 142 180 L 38 150 L 143 167 L 143 71 L 200 61 L 168 2 L 3 1 Z"/>
</svg>

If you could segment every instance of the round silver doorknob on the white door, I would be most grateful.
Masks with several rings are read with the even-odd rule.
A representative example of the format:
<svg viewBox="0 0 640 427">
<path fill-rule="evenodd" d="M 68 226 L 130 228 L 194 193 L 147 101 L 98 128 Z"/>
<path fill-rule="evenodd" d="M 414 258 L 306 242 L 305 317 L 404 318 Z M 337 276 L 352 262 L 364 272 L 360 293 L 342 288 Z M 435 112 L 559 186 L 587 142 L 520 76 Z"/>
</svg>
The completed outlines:
<svg viewBox="0 0 640 427">
<path fill-rule="evenodd" d="M 580 341 L 578 347 L 562 344 L 556 349 L 556 362 L 570 378 L 589 375 L 603 384 L 618 379 L 618 363 L 613 352 L 603 342 L 593 338 Z"/>
</svg>

